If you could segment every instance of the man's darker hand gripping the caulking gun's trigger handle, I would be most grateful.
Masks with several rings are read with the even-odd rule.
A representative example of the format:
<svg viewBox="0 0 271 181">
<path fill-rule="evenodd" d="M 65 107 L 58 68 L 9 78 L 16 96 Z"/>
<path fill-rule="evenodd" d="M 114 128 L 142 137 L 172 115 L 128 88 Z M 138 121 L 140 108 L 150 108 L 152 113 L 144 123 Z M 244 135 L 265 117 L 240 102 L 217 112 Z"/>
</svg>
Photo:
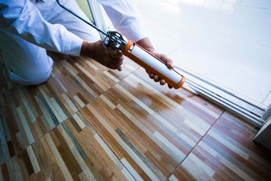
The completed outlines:
<svg viewBox="0 0 271 181">
<path fill-rule="evenodd" d="M 107 48 L 101 40 L 94 43 L 83 41 L 80 55 L 88 56 L 111 69 L 120 69 L 123 63 L 122 52 Z"/>
</svg>

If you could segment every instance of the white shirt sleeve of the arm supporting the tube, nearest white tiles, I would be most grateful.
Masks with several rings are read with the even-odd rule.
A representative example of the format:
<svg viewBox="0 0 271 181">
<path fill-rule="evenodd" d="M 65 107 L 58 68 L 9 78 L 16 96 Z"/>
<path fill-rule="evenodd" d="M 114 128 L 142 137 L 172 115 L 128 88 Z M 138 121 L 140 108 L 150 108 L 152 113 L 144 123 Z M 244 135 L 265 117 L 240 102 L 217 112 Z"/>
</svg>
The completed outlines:
<svg viewBox="0 0 271 181">
<path fill-rule="evenodd" d="M 147 37 L 145 26 L 133 0 L 98 0 L 118 32 L 137 42 Z"/>
</svg>

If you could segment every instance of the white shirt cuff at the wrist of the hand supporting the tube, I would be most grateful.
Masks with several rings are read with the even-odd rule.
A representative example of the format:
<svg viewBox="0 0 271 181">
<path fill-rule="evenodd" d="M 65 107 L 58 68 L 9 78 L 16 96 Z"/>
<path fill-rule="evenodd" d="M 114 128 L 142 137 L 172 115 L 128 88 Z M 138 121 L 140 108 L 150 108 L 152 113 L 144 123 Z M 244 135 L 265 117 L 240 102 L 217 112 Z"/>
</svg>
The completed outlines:
<svg viewBox="0 0 271 181">
<path fill-rule="evenodd" d="M 128 40 L 133 40 L 134 42 L 148 36 L 142 20 L 129 25 L 128 27 L 124 28 L 122 32 L 126 35 Z"/>
</svg>

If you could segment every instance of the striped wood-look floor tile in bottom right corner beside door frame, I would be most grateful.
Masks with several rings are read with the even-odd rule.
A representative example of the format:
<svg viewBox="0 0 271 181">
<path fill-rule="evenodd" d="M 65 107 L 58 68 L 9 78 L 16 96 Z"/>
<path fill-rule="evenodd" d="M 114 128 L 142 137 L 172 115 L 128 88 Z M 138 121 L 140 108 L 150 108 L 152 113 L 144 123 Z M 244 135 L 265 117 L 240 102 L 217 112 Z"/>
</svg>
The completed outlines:
<svg viewBox="0 0 271 181">
<path fill-rule="evenodd" d="M 208 180 L 270 180 L 270 151 L 252 141 L 256 133 L 253 125 L 224 112 L 173 173 L 174 177 L 179 180 L 191 177 L 205 180 L 207 176 Z M 170 180 L 174 179 L 170 177 Z"/>
</svg>

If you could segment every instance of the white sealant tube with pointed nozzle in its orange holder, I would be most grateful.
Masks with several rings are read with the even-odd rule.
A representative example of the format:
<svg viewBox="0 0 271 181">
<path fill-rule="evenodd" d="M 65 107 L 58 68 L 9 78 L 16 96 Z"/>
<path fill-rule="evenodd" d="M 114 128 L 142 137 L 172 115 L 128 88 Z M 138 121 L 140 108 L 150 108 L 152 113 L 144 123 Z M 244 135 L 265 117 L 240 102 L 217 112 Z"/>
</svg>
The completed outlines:
<svg viewBox="0 0 271 181">
<path fill-rule="evenodd" d="M 123 50 L 123 55 L 129 57 L 146 70 L 158 75 L 159 78 L 164 79 L 175 89 L 184 87 L 197 94 L 191 87 L 185 84 L 185 77 L 183 75 L 179 74 L 174 69 L 168 68 L 165 62 L 158 59 L 156 56 L 152 55 L 150 52 L 143 49 L 132 40 L 126 44 Z"/>
</svg>

